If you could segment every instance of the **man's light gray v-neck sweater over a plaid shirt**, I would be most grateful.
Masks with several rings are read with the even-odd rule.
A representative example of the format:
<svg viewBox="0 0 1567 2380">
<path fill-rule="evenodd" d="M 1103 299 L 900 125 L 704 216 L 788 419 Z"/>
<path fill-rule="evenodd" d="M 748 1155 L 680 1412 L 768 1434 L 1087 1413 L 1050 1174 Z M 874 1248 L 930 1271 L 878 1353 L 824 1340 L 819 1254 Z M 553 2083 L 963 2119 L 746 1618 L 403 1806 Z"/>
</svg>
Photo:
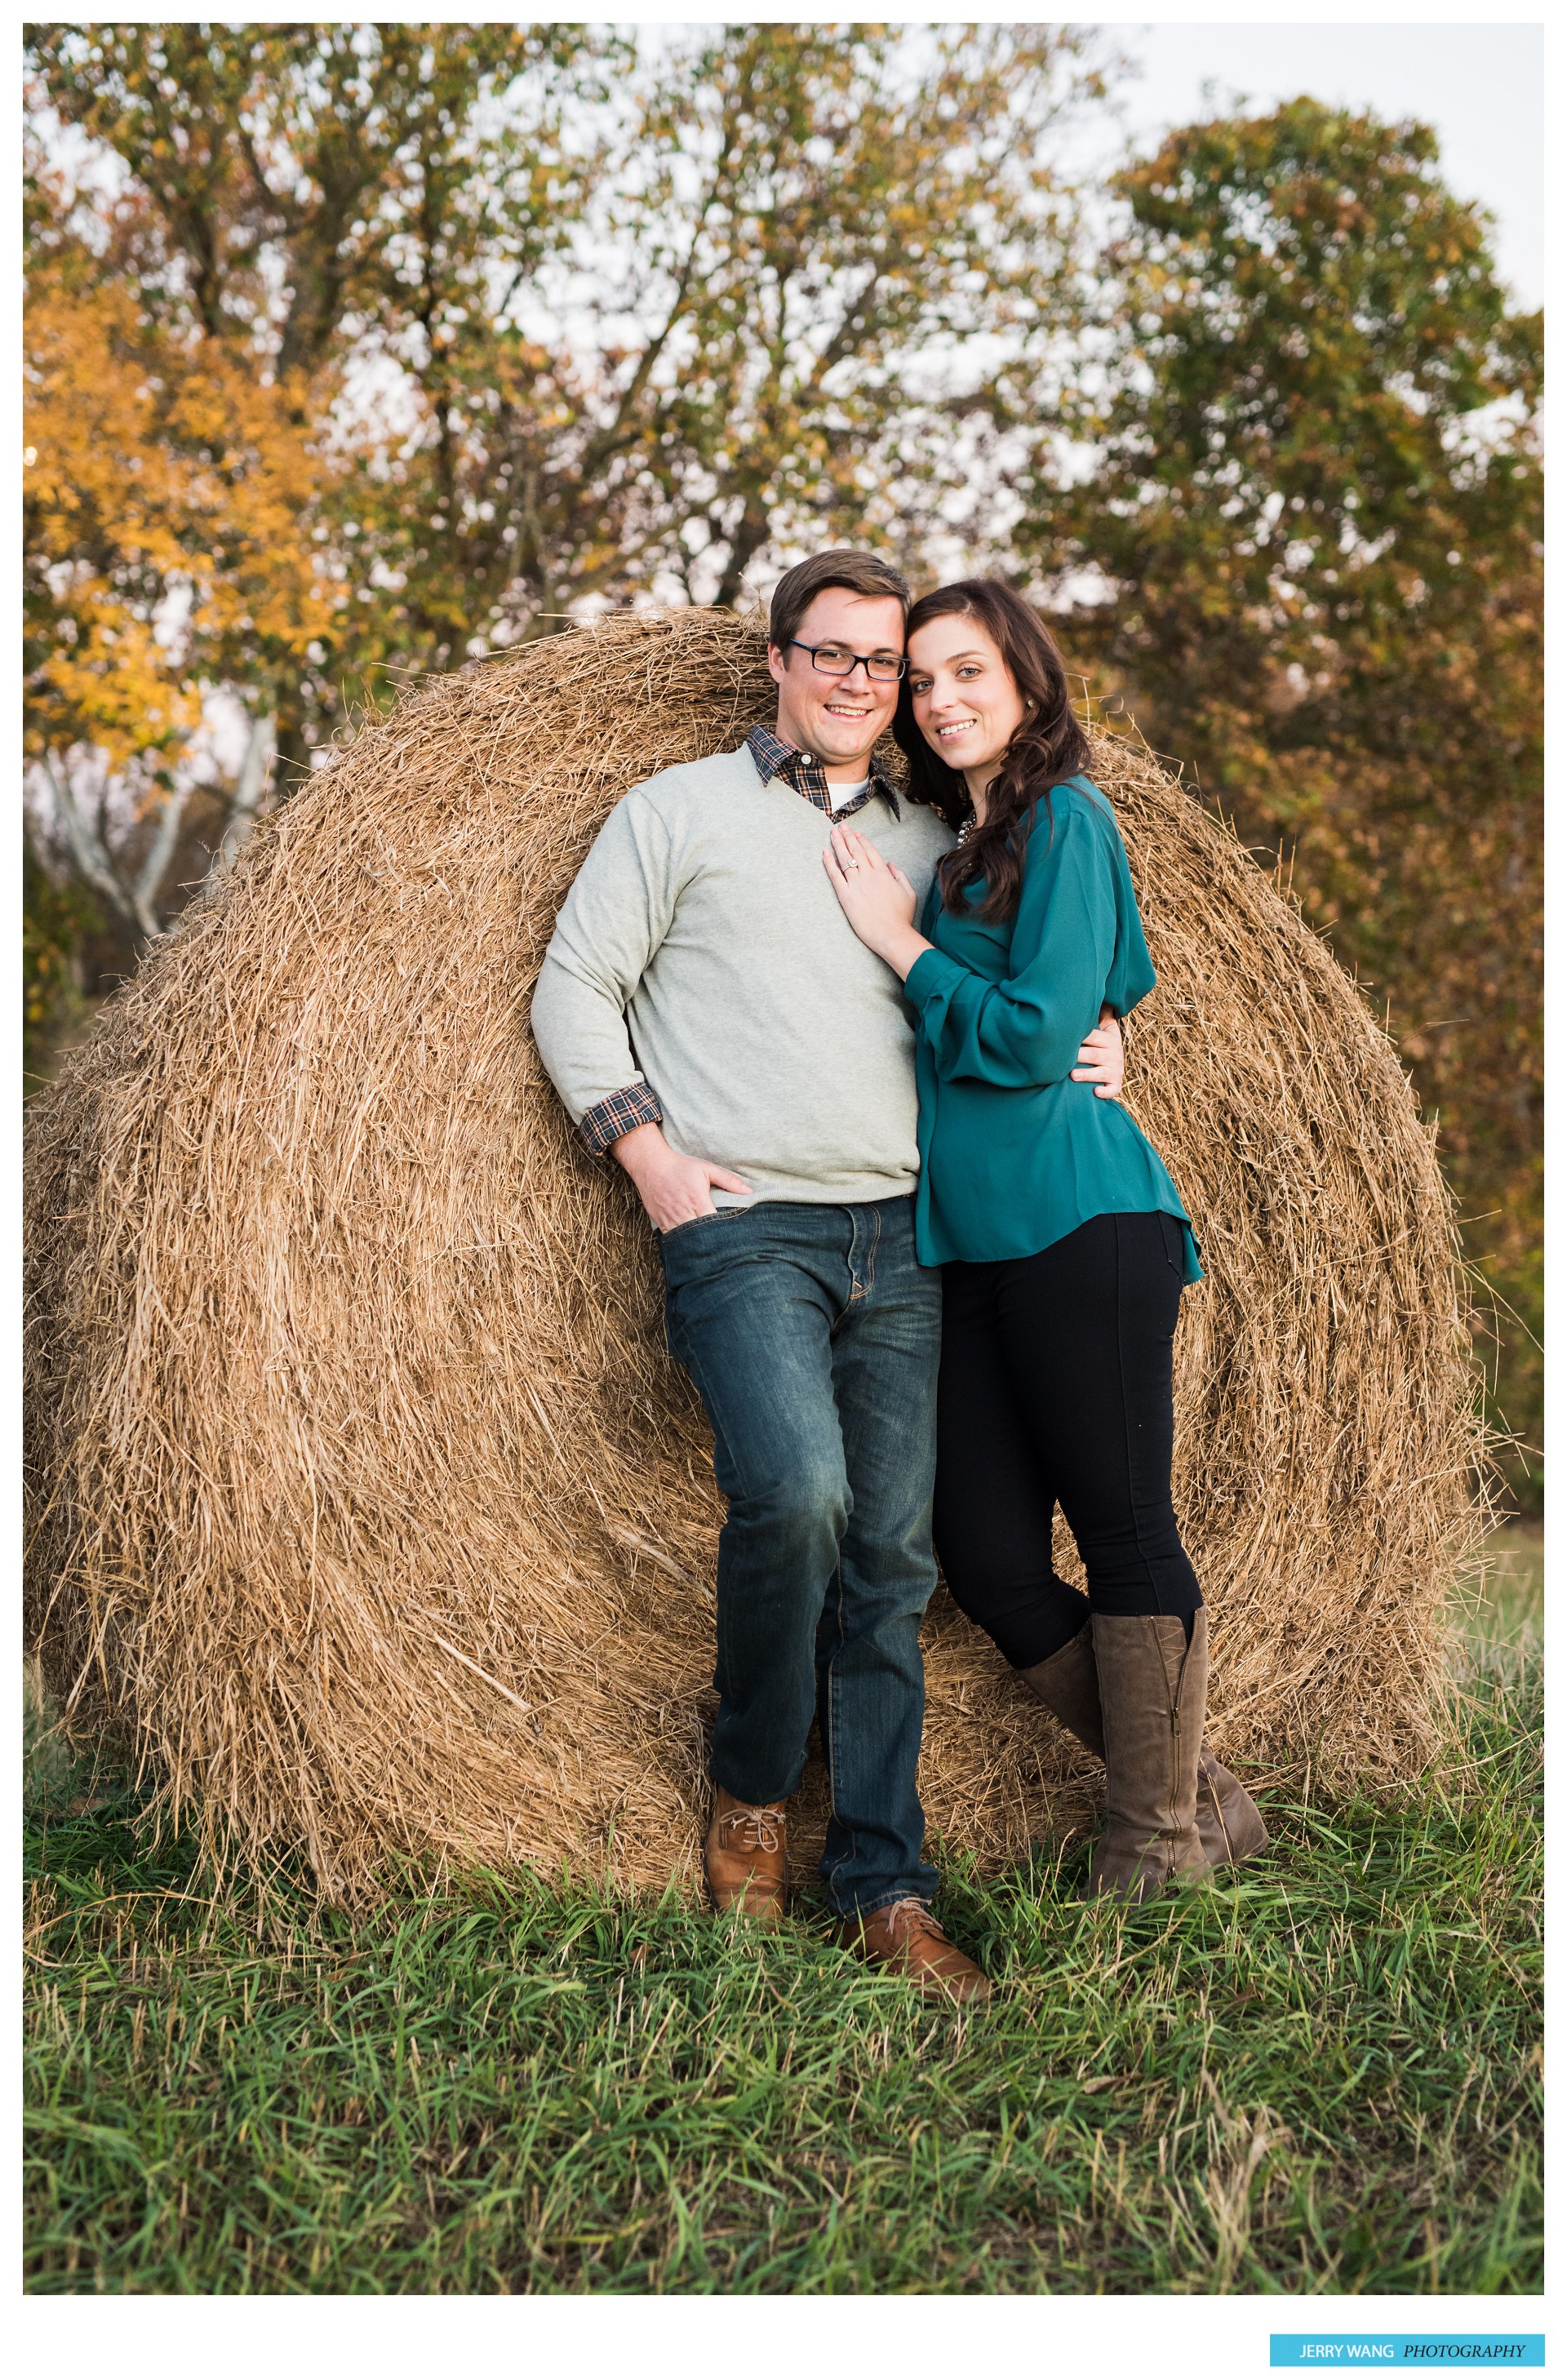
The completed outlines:
<svg viewBox="0 0 1567 2380">
<path fill-rule="evenodd" d="M 912 802 L 855 826 L 919 900 L 953 835 Z M 750 752 L 633 785 L 545 952 L 533 1040 L 572 1121 L 645 1081 L 664 1138 L 755 1197 L 907 1197 L 919 1173 L 914 1023 L 822 866 L 831 819 Z M 714 1204 L 738 1207 L 714 1190 Z"/>
</svg>

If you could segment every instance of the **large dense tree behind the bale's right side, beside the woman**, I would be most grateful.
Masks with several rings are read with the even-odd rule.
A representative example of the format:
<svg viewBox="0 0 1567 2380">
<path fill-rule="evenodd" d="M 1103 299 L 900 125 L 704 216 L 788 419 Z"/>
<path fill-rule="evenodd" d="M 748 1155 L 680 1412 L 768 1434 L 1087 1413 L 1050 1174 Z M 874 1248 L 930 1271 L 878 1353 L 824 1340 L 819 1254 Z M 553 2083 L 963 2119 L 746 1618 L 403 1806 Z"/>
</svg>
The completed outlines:
<svg viewBox="0 0 1567 2380">
<path fill-rule="evenodd" d="M 1076 657 L 1386 1007 L 1538 1445 L 1541 321 L 1415 124 L 1198 124 L 1119 195 L 1024 552 L 1098 581 Z"/>
</svg>

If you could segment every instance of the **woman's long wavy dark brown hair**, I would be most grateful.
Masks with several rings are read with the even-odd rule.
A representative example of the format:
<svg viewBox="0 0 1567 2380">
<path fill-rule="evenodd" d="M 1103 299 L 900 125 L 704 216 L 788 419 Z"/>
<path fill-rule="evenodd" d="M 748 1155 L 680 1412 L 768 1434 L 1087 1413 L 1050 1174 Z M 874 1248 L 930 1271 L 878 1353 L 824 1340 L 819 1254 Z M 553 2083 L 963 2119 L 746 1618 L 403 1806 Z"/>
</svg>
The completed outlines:
<svg viewBox="0 0 1567 2380">
<path fill-rule="evenodd" d="M 1024 702 L 1024 724 L 995 762 L 986 788 L 986 823 L 967 843 L 948 852 L 936 869 L 943 907 L 957 909 L 969 885 L 984 878 L 984 900 L 974 916 L 1005 919 L 1017 909 L 1024 876 L 1026 828 L 1019 821 L 1036 802 L 1050 804 L 1050 788 L 1076 776 L 1088 762 L 1088 738 L 1072 712 L 1067 666 L 1055 638 L 1034 605 L 1024 602 L 1003 578 L 957 578 L 950 588 L 922 595 L 910 612 L 910 640 L 934 619 L 953 614 L 976 619 L 1012 671 Z M 898 688 L 893 735 L 910 764 L 910 800 L 926 802 L 948 826 L 957 828 L 972 814 L 969 788 L 960 769 L 948 769 L 914 726 L 910 678 Z"/>
</svg>

